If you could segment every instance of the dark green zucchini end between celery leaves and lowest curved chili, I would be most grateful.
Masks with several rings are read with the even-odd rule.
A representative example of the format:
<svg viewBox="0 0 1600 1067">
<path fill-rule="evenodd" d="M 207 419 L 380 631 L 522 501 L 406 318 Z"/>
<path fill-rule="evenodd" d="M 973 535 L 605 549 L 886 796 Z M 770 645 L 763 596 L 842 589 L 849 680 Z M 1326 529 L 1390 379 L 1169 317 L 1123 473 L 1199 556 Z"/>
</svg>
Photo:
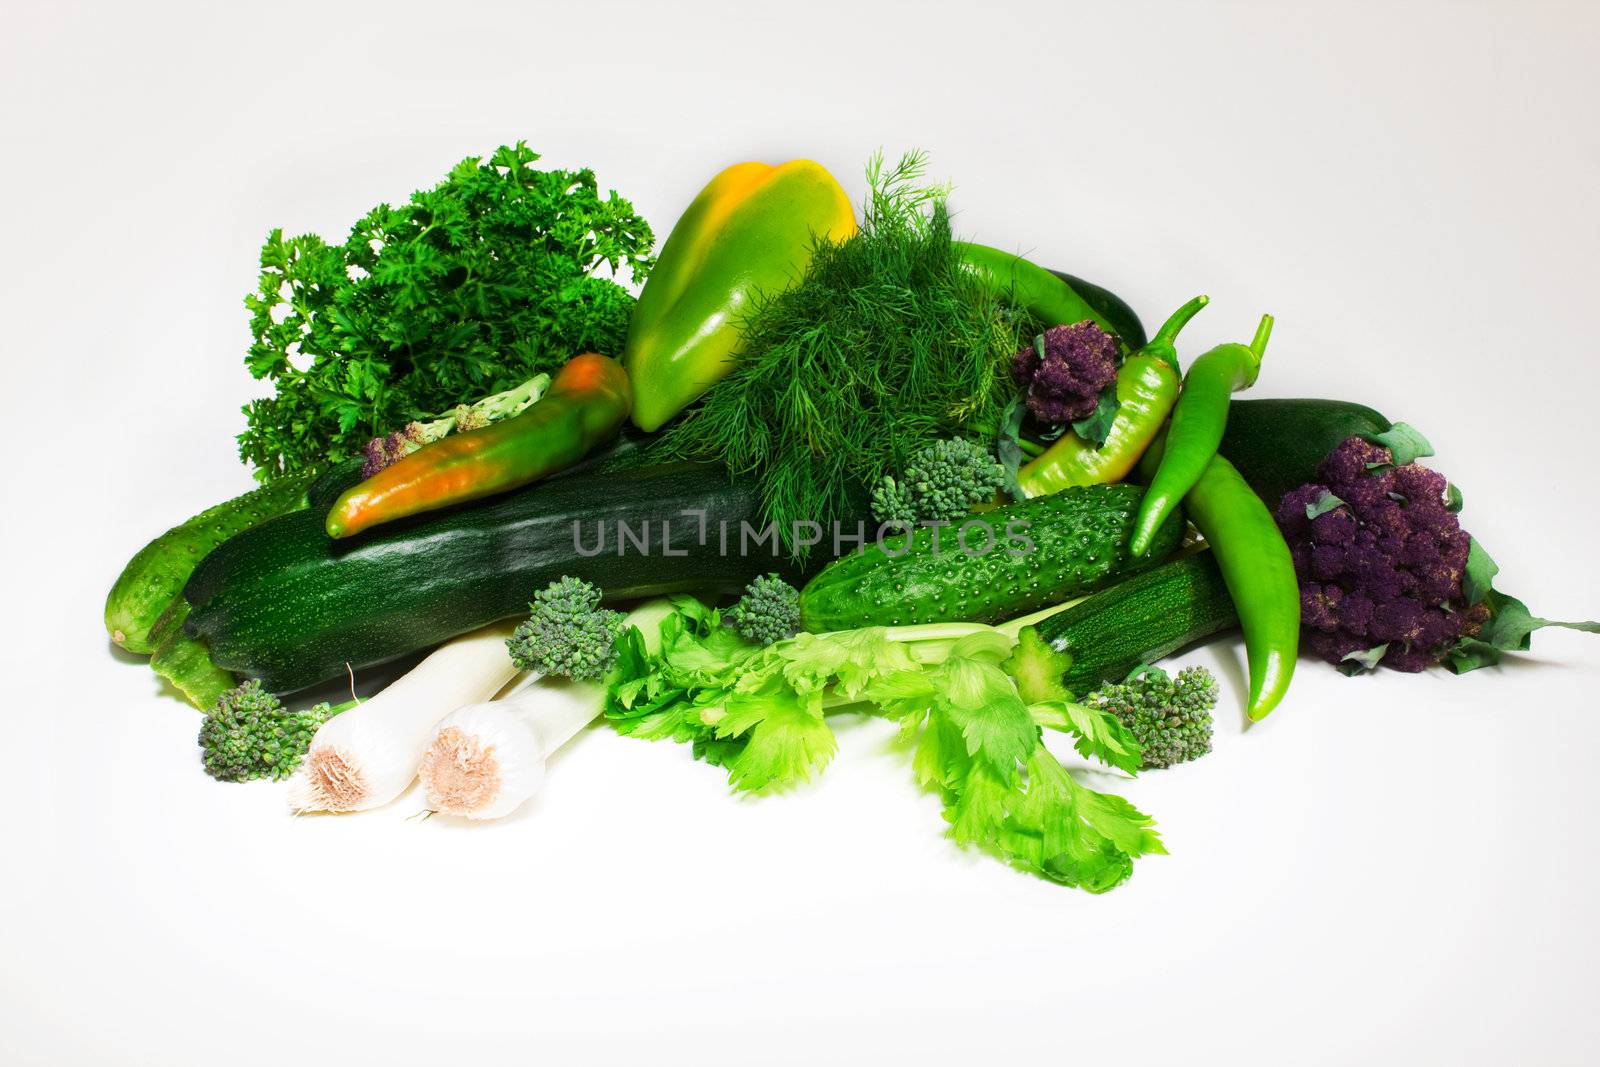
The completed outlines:
<svg viewBox="0 0 1600 1067">
<path fill-rule="evenodd" d="M 1035 622 L 1051 670 L 1082 699 L 1213 633 L 1238 613 L 1210 552 L 1195 552 L 1101 590 Z"/>
</svg>

